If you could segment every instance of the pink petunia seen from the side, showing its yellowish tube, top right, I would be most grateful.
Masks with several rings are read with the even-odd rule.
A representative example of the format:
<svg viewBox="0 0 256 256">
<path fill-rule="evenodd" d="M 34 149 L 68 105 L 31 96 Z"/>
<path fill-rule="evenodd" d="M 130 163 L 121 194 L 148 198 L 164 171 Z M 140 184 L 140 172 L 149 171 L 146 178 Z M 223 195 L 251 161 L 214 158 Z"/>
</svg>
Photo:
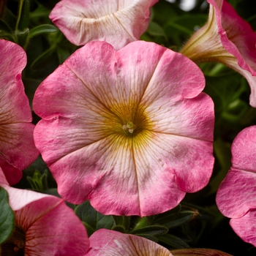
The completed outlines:
<svg viewBox="0 0 256 256">
<path fill-rule="evenodd" d="M 249 83 L 256 107 L 256 34 L 225 0 L 207 0 L 208 22 L 195 32 L 181 53 L 196 62 L 217 61 L 235 69 Z"/>
</svg>

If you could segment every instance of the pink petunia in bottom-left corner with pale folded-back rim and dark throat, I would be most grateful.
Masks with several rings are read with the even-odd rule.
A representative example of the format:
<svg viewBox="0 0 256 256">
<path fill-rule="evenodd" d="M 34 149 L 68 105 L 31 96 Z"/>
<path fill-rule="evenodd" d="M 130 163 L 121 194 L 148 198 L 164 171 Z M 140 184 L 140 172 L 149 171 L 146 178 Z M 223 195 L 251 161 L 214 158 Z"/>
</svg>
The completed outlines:
<svg viewBox="0 0 256 256">
<path fill-rule="evenodd" d="M 15 213 L 15 230 L 0 245 L 2 256 L 78 256 L 88 251 L 86 228 L 64 200 L 12 188 L 1 169 L 0 186 L 7 190 Z"/>
</svg>

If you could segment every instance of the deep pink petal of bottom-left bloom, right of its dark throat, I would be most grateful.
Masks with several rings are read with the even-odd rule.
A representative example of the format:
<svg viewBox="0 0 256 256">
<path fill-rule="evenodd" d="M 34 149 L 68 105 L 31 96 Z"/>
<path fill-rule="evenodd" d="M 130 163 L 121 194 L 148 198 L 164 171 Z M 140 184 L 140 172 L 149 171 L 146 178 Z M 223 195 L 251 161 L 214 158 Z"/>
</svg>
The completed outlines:
<svg viewBox="0 0 256 256">
<path fill-rule="evenodd" d="M 15 212 L 26 231 L 26 255 L 84 255 L 89 249 L 86 229 L 64 200 L 47 196 Z"/>
</svg>

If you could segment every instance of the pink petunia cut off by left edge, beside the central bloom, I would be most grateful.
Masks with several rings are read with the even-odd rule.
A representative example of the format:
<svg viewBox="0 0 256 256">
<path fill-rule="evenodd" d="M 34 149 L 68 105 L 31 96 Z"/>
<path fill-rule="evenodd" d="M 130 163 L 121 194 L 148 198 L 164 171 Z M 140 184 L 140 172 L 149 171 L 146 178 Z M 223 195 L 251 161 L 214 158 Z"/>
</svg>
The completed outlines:
<svg viewBox="0 0 256 256">
<path fill-rule="evenodd" d="M 26 53 L 19 45 L 0 39 L 0 56 L 0 167 L 7 181 L 16 184 L 39 152 L 34 146 L 34 124 L 21 80 Z"/>
</svg>

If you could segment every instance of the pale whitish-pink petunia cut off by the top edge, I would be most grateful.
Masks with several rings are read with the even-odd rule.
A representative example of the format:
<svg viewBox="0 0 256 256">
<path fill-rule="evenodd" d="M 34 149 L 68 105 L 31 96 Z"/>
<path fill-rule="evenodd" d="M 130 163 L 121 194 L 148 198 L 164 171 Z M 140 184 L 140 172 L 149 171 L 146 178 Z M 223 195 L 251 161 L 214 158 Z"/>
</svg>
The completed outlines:
<svg viewBox="0 0 256 256">
<path fill-rule="evenodd" d="M 105 41 L 116 50 L 140 39 L 148 28 L 150 7 L 158 0 L 61 0 L 50 19 L 75 45 Z"/>
</svg>

